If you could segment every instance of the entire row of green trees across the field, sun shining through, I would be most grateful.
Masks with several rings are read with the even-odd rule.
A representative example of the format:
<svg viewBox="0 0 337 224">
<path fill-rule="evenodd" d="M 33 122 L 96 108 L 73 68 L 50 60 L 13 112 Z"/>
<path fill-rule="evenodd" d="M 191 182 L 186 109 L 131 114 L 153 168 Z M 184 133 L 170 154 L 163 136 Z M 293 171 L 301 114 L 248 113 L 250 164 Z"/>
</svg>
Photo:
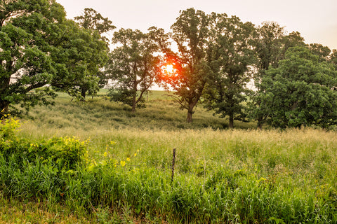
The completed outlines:
<svg viewBox="0 0 337 224">
<path fill-rule="evenodd" d="M 188 123 L 199 103 L 231 128 L 250 119 L 260 128 L 336 125 L 337 51 L 305 44 L 277 22 L 188 8 L 171 32 L 122 28 L 110 42 L 105 34 L 115 27 L 100 13 L 86 8 L 74 20 L 55 1 L 1 2 L 1 110 L 51 104 L 53 90 L 83 100 L 112 80 L 110 99 L 132 111 L 154 83 L 170 88 Z"/>
</svg>

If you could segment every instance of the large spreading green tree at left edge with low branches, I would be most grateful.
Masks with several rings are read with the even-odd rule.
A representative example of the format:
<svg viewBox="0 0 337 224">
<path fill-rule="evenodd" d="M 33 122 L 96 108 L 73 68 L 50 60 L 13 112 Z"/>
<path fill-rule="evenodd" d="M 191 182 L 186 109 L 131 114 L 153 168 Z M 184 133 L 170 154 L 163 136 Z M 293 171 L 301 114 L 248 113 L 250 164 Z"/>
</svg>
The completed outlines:
<svg viewBox="0 0 337 224">
<path fill-rule="evenodd" d="M 0 110 L 50 104 L 52 86 L 77 92 L 89 63 L 103 59 L 102 41 L 65 18 L 53 0 L 0 2 Z M 95 52 L 95 53 L 94 53 Z M 97 57 L 93 57 L 93 55 Z M 99 63 L 99 62 L 98 62 Z M 94 68 L 95 69 L 95 68 Z"/>
</svg>

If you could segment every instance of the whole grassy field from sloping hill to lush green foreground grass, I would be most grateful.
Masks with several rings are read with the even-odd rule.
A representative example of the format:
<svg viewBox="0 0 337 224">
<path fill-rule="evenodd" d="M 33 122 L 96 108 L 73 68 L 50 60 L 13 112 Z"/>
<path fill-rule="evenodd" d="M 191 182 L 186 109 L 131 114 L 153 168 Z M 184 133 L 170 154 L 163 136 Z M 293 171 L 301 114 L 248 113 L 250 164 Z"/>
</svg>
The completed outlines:
<svg viewBox="0 0 337 224">
<path fill-rule="evenodd" d="M 27 152 L 64 138 L 83 161 L 1 160 L 0 223 L 337 223 L 336 132 L 228 130 L 202 106 L 185 116 L 163 92 L 134 114 L 104 92 L 32 109 L 15 132 Z"/>
</svg>

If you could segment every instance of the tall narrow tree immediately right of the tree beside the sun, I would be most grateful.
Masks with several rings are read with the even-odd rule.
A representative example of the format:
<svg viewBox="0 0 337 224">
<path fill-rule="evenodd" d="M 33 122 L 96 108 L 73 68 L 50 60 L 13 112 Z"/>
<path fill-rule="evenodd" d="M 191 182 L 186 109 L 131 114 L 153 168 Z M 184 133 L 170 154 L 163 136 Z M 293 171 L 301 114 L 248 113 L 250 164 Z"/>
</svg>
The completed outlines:
<svg viewBox="0 0 337 224">
<path fill-rule="evenodd" d="M 249 66 L 255 61 L 253 39 L 255 27 L 251 22 L 242 22 L 236 16 L 213 14 L 215 39 L 210 42 L 209 57 L 215 76 L 208 85 L 206 101 L 209 109 L 216 110 L 222 117 L 229 116 L 230 128 L 234 120 L 245 120 L 246 111 L 242 104 L 249 90 L 246 83 L 251 79 Z"/>
</svg>

